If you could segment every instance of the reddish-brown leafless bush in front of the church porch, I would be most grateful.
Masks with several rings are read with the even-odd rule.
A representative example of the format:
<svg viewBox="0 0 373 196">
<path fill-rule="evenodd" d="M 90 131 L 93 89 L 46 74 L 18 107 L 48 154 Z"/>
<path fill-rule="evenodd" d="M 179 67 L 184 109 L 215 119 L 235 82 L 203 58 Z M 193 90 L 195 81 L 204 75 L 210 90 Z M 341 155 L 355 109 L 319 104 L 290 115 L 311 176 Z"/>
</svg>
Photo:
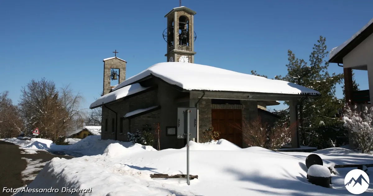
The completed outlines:
<svg viewBox="0 0 373 196">
<path fill-rule="evenodd" d="M 242 128 L 235 126 L 242 131 L 244 142 L 248 146 L 259 146 L 266 149 L 279 149 L 288 144 L 291 140 L 290 128 L 285 125 L 270 127 L 266 122 L 257 118 L 251 122 L 244 122 Z"/>
</svg>

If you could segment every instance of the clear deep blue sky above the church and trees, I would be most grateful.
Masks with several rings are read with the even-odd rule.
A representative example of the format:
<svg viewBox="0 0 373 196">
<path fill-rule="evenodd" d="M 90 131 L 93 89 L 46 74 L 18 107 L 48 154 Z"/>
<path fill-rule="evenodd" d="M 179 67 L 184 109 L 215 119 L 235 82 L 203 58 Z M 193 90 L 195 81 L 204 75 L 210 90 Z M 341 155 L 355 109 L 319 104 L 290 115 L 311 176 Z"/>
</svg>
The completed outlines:
<svg viewBox="0 0 373 196">
<path fill-rule="evenodd" d="M 371 18 L 373 1 L 182 0 L 195 10 L 195 63 L 242 73 L 285 75 L 287 50 L 308 60 L 320 35 L 328 50 Z M 103 62 L 113 51 L 127 63 L 126 78 L 165 62 L 164 15 L 178 0 L 1 1 L 0 92 L 18 103 L 31 79 L 70 84 L 88 108 L 103 87 Z M 342 73 L 331 64 L 329 72 Z M 366 71 L 356 73 L 368 89 Z M 338 87 L 337 96 L 342 97 Z M 276 108 L 283 108 L 278 106 Z"/>
</svg>

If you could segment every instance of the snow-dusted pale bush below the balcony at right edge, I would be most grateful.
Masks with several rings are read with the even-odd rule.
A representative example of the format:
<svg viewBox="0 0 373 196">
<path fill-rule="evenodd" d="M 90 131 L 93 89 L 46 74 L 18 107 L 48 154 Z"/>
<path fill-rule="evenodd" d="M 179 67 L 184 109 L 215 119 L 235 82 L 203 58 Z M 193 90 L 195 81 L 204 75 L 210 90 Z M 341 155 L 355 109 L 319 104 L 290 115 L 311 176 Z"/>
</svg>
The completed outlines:
<svg viewBox="0 0 373 196">
<path fill-rule="evenodd" d="M 373 149 L 373 107 L 365 107 L 364 111 L 358 112 L 356 105 L 352 110 L 346 105 L 342 120 L 350 131 L 353 143 L 362 153 L 368 153 Z"/>
</svg>

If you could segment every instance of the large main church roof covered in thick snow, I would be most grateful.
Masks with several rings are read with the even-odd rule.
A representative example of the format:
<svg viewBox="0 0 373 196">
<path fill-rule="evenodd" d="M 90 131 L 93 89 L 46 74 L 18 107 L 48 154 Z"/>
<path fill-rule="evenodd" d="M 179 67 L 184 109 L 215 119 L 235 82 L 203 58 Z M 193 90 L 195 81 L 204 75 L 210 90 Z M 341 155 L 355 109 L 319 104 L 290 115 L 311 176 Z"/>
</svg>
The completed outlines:
<svg viewBox="0 0 373 196">
<path fill-rule="evenodd" d="M 177 85 L 184 90 L 236 91 L 252 93 L 319 95 L 316 90 L 298 84 L 243 74 L 207 65 L 181 62 L 157 63 L 139 74 L 128 78 L 112 90 L 115 92 L 128 84 L 149 75 Z"/>
</svg>

